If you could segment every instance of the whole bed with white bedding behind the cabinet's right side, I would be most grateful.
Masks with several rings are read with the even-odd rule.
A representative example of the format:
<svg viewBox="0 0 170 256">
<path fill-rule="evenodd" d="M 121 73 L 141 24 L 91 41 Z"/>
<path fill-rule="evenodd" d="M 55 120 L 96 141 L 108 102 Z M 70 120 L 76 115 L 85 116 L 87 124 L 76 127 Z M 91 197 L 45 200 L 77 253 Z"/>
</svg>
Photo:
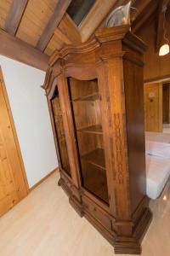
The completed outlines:
<svg viewBox="0 0 170 256">
<path fill-rule="evenodd" d="M 161 195 L 170 176 L 170 144 L 146 140 L 146 194 Z"/>
</svg>

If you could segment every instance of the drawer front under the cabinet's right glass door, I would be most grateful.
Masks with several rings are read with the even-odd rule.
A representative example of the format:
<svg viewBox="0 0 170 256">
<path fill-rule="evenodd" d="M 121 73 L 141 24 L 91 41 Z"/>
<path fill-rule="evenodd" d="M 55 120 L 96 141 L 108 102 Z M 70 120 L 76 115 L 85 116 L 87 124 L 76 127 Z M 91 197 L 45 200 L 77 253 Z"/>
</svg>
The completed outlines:
<svg viewBox="0 0 170 256">
<path fill-rule="evenodd" d="M 111 218 L 107 212 L 105 212 L 105 210 L 103 210 L 101 207 L 95 204 L 94 201 L 89 200 L 85 196 L 82 198 L 82 203 L 85 212 L 87 211 L 90 215 L 96 218 L 96 220 L 105 226 L 107 230 L 112 230 Z"/>
</svg>

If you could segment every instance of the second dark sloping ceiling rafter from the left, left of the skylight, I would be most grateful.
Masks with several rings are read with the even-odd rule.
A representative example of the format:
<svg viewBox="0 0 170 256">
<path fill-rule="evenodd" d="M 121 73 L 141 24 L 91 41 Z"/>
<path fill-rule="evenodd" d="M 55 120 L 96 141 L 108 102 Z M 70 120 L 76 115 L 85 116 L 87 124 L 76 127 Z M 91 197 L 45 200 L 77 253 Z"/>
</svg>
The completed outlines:
<svg viewBox="0 0 170 256">
<path fill-rule="evenodd" d="M 59 22 L 65 15 L 66 9 L 69 7 L 70 3 L 71 0 L 58 0 L 58 3 L 54 9 L 54 14 L 51 16 L 50 20 L 48 20 L 48 24 L 42 32 L 41 38 L 37 42 L 37 49 L 43 51 L 47 47 L 54 34 L 55 28 L 59 26 Z"/>
</svg>

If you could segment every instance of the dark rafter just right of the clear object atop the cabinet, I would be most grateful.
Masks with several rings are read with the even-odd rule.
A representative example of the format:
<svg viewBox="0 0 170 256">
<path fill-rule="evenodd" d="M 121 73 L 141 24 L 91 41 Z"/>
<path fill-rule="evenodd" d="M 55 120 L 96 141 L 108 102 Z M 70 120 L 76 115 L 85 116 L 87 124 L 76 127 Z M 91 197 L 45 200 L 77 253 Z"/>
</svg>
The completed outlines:
<svg viewBox="0 0 170 256">
<path fill-rule="evenodd" d="M 158 0 L 151 0 L 150 3 L 146 6 L 144 11 L 133 21 L 132 31 L 133 33 L 137 32 L 144 23 L 149 20 L 150 16 L 156 12 L 158 6 Z"/>
</svg>

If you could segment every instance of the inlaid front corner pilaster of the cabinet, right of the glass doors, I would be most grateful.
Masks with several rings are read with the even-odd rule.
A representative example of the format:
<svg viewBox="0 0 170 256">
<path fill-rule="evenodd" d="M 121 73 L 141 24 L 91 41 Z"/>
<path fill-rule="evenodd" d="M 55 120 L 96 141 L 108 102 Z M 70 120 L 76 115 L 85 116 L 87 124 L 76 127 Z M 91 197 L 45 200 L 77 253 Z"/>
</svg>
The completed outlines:
<svg viewBox="0 0 170 256">
<path fill-rule="evenodd" d="M 110 104 L 110 147 L 116 213 L 116 231 L 123 236 L 132 234 L 129 172 L 127 160 L 127 132 L 122 57 L 116 56 L 105 62 L 108 74 L 107 100 Z M 123 224 L 122 223 L 126 223 Z"/>
</svg>

